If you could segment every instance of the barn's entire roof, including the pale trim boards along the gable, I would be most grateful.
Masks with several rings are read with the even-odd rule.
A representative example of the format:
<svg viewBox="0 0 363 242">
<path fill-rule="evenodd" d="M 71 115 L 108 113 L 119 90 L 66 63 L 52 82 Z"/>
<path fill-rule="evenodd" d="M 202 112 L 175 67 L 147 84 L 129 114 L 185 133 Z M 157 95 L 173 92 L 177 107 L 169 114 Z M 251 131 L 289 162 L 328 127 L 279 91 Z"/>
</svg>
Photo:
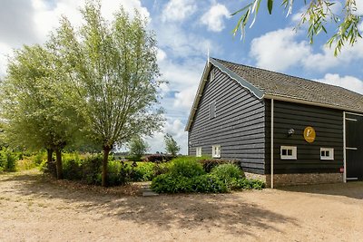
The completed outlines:
<svg viewBox="0 0 363 242">
<path fill-rule="evenodd" d="M 286 102 L 306 103 L 342 111 L 363 113 L 363 95 L 345 88 L 321 82 L 263 70 L 239 63 L 231 63 L 210 58 L 201 77 L 200 86 L 191 108 L 185 131 L 189 131 L 195 111 L 201 99 L 205 82 L 210 71 L 210 64 L 228 74 L 259 99 L 276 99 Z"/>
</svg>

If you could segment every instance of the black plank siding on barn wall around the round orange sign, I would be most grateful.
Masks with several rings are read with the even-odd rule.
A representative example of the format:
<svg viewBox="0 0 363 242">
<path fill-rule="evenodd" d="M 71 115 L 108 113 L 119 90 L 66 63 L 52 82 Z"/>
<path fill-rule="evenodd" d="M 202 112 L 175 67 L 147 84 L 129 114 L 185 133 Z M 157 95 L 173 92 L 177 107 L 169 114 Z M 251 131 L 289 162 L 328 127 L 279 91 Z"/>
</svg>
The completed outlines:
<svg viewBox="0 0 363 242">
<path fill-rule="evenodd" d="M 270 100 L 266 100 L 266 174 L 270 173 Z M 311 126 L 316 139 L 304 139 Z M 295 133 L 288 136 L 288 130 Z M 296 146 L 297 160 L 281 160 L 280 146 Z M 333 148 L 334 160 L 320 160 L 320 148 Z M 339 172 L 343 167 L 343 111 L 274 101 L 274 173 Z"/>
</svg>

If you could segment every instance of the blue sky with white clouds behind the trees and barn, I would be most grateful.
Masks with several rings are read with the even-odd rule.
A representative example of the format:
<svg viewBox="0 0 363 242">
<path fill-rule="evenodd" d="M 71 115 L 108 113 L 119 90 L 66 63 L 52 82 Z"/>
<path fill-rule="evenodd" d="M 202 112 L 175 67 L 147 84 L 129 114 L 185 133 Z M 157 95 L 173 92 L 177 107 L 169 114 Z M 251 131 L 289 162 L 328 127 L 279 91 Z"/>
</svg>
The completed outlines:
<svg viewBox="0 0 363 242">
<path fill-rule="evenodd" d="M 341 85 L 363 93 L 363 42 L 359 40 L 354 47 L 345 48 L 336 58 L 333 51 L 324 46 L 328 35 L 321 34 L 310 45 L 306 26 L 297 32 L 293 30 L 299 23 L 303 5 L 298 2 L 302 1 L 295 1 L 289 17 L 280 7 L 280 1 L 275 2 L 273 15 L 268 15 L 262 1 L 256 23 L 247 29 L 241 41 L 240 34 L 231 34 L 238 21 L 238 17 L 231 16 L 231 13 L 248 1 L 102 1 L 106 19 L 112 19 L 114 9 L 120 5 L 130 13 L 136 8 L 149 19 L 149 28 L 156 34 L 162 79 L 169 84 L 163 85 L 161 91 L 166 123 L 162 132 L 146 138 L 151 145 L 150 151 L 163 151 L 162 133 L 169 132 L 182 146 L 182 153 L 186 153 L 184 127 L 208 50 L 212 57 Z M 363 14 L 362 1 L 357 2 L 358 14 Z M 74 25 L 79 25 L 80 5 L 83 1 L 2 1 L 0 76 L 5 75 L 6 56 L 11 55 L 12 49 L 22 44 L 43 43 L 49 31 L 57 25 L 60 15 L 68 16 Z M 339 6 L 337 4 L 335 10 L 337 14 Z M 329 30 L 334 31 L 334 27 Z"/>
</svg>

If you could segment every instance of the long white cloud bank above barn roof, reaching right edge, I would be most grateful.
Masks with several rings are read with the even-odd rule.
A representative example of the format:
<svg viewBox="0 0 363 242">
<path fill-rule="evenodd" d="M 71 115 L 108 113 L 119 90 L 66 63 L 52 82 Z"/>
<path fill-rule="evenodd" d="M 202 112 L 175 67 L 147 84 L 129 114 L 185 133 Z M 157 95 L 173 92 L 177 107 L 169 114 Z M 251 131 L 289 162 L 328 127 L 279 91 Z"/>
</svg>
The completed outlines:
<svg viewBox="0 0 363 242">
<path fill-rule="evenodd" d="M 363 41 L 358 39 L 354 46 L 346 45 L 338 57 L 334 56 L 334 45 L 326 45 L 314 53 L 306 40 L 299 41 L 299 34 L 289 28 L 263 34 L 251 41 L 250 56 L 258 66 L 274 71 L 285 71 L 293 66 L 306 70 L 325 72 L 330 68 L 348 65 L 363 59 Z"/>
</svg>

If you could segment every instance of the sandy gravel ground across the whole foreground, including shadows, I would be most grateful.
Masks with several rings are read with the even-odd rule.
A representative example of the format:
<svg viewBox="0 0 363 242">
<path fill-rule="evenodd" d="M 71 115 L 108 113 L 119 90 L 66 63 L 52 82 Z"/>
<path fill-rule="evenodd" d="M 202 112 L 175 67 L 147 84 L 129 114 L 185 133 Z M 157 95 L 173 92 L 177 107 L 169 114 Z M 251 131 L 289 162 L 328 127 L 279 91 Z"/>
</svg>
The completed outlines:
<svg viewBox="0 0 363 242">
<path fill-rule="evenodd" d="M 363 241 L 363 182 L 142 197 L 0 175 L 0 241 Z"/>
</svg>

